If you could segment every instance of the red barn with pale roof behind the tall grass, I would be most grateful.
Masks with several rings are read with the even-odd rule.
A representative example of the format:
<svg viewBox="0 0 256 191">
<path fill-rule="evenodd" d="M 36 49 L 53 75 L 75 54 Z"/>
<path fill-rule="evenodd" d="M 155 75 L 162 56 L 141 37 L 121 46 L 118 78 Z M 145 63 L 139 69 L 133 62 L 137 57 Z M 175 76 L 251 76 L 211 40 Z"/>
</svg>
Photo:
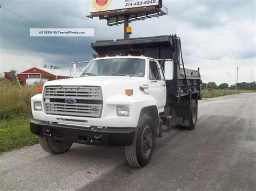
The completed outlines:
<svg viewBox="0 0 256 191">
<path fill-rule="evenodd" d="M 18 78 L 23 81 L 23 85 L 26 84 L 28 79 L 49 79 L 49 80 L 59 80 L 66 79 L 70 77 L 70 71 L 62 69 L 50 69 L 50 68 L 41 68 L 33 67 L 28 70 L 25 70 L 22 73 L 17 74 Z"/>
</svg>

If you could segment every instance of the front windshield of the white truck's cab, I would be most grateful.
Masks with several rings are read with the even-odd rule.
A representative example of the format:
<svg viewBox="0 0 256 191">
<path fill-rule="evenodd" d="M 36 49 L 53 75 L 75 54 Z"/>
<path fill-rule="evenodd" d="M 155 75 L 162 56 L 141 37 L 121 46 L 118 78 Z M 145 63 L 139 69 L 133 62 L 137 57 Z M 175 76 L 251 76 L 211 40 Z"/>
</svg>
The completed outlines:
<svg viewBox="0 0 256 191">
<path fill-rule="evenodd" d="M 138 58 L 114 58 L 93 60 L 80 77 L 98 75 L 120 75 L 144 77 L 145 60 Z"/>
</svg>

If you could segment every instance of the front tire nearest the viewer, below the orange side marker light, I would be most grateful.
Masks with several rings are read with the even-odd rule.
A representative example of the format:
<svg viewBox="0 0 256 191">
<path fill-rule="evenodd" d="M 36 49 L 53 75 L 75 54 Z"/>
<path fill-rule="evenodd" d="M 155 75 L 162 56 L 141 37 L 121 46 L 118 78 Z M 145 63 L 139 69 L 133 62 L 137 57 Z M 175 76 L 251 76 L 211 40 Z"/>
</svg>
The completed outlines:
<svg viewBox="0 0 256 191">
<path fill-rule="evenodd" d="M 133 144 L 125 147 L 126 159 L 130 166 L 146 166 L 153 154 L 154 123 L 149 114 L 142 114 L 133 139 Z"/>
</svg>

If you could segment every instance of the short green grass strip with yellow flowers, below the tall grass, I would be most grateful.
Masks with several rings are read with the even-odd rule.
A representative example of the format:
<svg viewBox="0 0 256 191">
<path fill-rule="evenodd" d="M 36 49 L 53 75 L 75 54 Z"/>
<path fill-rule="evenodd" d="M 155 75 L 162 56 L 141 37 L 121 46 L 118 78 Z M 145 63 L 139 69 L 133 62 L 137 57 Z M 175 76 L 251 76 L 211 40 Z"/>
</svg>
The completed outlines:
<svg viewBox="0 0 256 191">
<path fill-rule="evenodd" d="M 28 117 L 3 119 L 0 123 L 0 154 L 38 143 L 37 136 L 30 132 Z"/>
</svg>

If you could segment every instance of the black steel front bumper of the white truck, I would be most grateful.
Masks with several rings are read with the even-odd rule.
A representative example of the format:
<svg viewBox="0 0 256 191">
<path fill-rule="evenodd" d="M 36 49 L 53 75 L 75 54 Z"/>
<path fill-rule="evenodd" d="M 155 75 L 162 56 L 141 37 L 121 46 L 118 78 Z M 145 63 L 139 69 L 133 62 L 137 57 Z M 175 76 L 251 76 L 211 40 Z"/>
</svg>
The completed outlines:
<svg viewBox="0 0 256 191">
<path fill-rule="evenodd" d="M 39 137 L 96 146 L 132 145 L 135 135 L 135 128 L 84 128 L 36 121 L 30 121 L 30 131 Z"/>
</svg>

